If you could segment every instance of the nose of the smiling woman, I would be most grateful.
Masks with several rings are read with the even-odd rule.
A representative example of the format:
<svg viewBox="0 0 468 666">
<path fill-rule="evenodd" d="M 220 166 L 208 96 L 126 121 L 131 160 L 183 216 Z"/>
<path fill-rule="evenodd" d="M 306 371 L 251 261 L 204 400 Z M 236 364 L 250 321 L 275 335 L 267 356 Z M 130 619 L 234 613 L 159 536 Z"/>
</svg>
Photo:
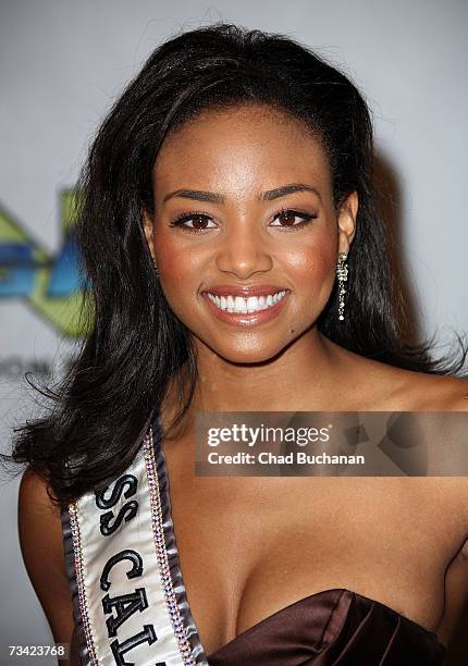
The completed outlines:
<svg viewBox="0 0 468 666">
<path fill-rule="evenodd" d="M 246 280 L 257 272 L 266 272 L 273 267 L 272 247 L 262 230 L 251 219 L 237 221 L 230 229 L 218 248 L 217 268 Z"/>
</svg>

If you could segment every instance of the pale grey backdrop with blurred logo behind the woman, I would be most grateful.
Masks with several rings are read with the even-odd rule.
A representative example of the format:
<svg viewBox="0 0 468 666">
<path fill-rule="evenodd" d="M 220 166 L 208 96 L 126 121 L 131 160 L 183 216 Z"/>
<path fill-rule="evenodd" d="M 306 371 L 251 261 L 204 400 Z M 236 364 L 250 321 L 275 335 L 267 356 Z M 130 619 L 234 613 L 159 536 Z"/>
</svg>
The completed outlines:
<svg viewBox="0 0 468 666">
<path fill-rule="evenodd" d="M 452 328 L 468 328 L 464 0 L 1 0 L 3 451 L 12 428 L 39 409 L 24 372 L 47 379 L 73 354 L 70 190 L 99 120 L 161 40 L 220 20 L 285 33 L 359 85 L 373 112 L 389 220 L 420 330 L 442 345 Z M 10 663 L 7 645 L 51 640 L 22 564 L 17 484 L 0 484 L 0 664 Z"/>
</svg>

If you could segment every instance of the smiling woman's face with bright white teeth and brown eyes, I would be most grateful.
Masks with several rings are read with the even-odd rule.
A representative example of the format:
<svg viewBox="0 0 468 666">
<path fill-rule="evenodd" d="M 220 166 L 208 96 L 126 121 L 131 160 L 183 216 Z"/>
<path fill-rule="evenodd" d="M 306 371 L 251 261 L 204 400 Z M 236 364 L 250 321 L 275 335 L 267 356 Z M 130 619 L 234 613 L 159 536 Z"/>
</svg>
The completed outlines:
<svg viewBox="0 0 468 666">
<path fill-rule="evenodd" d="M 253 104 L 205 112 L 164 140 L 153 193 L 146 236 L 196 345 L 258 362 L 313 333 L 357 195 L 335 211 L 328 158 L 300 123 Z"/>
</svg>

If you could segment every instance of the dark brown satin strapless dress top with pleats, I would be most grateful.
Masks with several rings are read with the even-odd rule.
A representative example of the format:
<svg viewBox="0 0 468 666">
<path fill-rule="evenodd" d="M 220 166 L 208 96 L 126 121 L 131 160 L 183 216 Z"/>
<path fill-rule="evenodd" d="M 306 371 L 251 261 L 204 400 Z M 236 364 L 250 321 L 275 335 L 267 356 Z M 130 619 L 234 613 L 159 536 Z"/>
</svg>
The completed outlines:
<svg viewBox="0 0 468 666">
<path fill-rule="evenodd" d="M 435 633 L 344 589 L 303 599 L 208 656 L 210 666 L 439 666 Z"/>
</svg>

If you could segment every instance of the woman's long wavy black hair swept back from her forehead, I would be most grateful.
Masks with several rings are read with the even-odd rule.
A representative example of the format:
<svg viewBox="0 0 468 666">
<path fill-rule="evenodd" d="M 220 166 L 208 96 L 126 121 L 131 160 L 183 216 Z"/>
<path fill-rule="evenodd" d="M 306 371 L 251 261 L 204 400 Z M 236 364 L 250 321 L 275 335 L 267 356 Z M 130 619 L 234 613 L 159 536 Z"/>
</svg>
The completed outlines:
<svg viewBox="0 0 468 666">
<path fill-rule="evenodd" d="M 170 378 L 186 412 L 197 381 L 190 332 L 155 275 L 141 210 L 155 210 L 151 172 L 170 133 L 206 109 L 261 103 L 319 137 L 331 164 L 336 208 L 356 190 L 357 231 L 348 258 L 349 307 L 337 321 L 336 285 L 318 320 L 338 345 L 385 363 L 454 374 L 458 360 L 405 342 L 402 293 L 394 288 L 372 177 L 372 125 L 357 87 L 307 47 L 279 34 L 213 24 L 159 46 L 99 128 L 78 190 L 76 234 L 93 317 L 48 415 L 19 429 L 13 455 L 48 480 L 65 506 L 121 473 L 136 455 Z M 69 468 L 67 461 L 81 465 Z M 73 473 L 70 470 L 73 470 Z"/>
</svg>

